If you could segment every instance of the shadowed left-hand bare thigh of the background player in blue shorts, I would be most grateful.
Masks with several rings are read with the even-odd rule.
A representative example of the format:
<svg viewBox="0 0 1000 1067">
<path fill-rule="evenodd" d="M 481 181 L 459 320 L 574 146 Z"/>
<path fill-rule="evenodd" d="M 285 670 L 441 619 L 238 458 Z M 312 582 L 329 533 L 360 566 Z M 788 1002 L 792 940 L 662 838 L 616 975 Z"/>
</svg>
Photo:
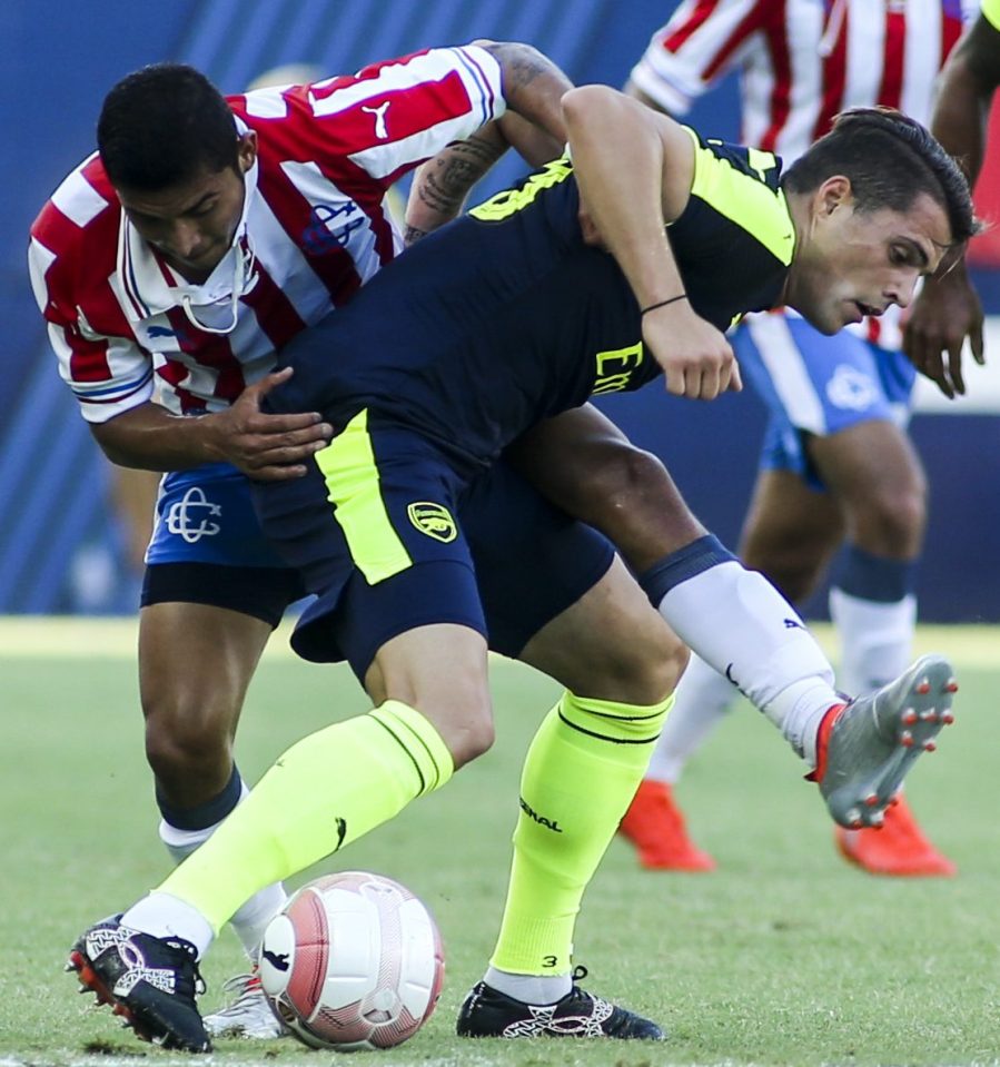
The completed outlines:
<svg viewBox="0 0 1000 1067">
<path fill-rule="evenodd" d="M 743 524 L 740 556 L 791 600 L 806 597 L 840 547 L 844 521 L 835 496 L 798 474 L 762 470 Z"/>
</svg>

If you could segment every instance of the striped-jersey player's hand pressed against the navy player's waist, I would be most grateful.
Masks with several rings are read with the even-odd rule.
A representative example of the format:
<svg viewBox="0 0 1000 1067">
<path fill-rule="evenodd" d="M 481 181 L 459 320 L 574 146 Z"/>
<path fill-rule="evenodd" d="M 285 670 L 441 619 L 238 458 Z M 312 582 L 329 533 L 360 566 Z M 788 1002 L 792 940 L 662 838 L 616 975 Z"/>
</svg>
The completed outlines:
<svg viewBox="0 0 1000 1067">
<path fill-rule="evenodd" d="M 283 382 L 293 368 L 284 367 L 247 386 L 234 405 L 212 418 L 214 447 L 244 474 L 259 482 L 281 482 L 301 477 L 305 461 L 326 447 L 333 427 L 318 412 L 296 415 L 269 415 L 260 402 Z"/>
</svg>

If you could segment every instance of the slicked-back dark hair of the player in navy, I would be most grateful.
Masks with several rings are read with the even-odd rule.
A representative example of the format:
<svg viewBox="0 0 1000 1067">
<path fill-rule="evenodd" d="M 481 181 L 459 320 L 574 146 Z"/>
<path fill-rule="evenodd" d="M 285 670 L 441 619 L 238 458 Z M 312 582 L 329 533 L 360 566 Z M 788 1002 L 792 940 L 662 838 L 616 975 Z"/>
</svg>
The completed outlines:
<svg viewBox="0 0 1000 1067">
<path fill-rule="evenodd" d="M 833 175 L 851 180 L 859 211 L 907 211 L 923 192 L 944 208 L 952 240 L 980 230 L 969 182 L 958 164 L 917 121 L 892 108 L 854 108 L 782 176 L 790 192 L 809 192 Z"/>
</svg>

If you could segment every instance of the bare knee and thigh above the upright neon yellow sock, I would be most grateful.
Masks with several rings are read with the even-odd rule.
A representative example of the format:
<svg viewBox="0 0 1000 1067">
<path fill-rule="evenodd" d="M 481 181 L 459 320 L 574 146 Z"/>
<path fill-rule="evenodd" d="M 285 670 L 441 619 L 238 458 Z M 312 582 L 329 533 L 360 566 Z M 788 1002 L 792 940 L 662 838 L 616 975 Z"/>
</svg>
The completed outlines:
<svg viewBox="0 0 1000 1067">
<path fill-rule="evenodd" d="M 532 638 L 521 659 L 581 696 L 653 704 L 673 691 L 687 650 L 615 557 Z"/>
</svg>

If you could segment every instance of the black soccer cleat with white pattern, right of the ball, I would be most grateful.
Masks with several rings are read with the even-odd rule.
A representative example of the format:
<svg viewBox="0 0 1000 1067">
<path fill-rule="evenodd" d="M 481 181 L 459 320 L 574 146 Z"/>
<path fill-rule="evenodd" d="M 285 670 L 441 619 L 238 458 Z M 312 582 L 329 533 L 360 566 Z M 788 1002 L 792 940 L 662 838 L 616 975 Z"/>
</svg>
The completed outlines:
<svg viewBox="0 0 1000 1067">
<path fill-rule="evenodd" d="M 577 967 L 573 988 L 555 1004 L 524 1004 L 477 982 L 458 1011 L 458 1036 L 664 1039 L 655 1022 L 581 989 L 576 982 L 586 974 L 586 968 Z"/>
</svg>

